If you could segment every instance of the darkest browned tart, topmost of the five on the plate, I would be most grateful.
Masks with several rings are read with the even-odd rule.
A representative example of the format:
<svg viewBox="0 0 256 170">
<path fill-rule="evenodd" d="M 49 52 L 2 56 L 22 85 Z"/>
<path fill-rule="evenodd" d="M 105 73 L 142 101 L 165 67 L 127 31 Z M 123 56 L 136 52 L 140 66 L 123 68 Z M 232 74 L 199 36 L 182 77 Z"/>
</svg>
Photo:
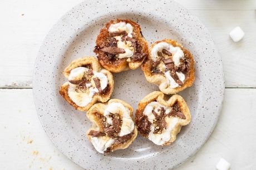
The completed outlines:
<svg viewBox="0 0 256 170">
<path fill-rule="evenodd" d="M 140 25 L 130 19 L 106 23 L 93 51 L 100 64 L 114 73 L 138 68 L 149 53 Z"/>
</svg>

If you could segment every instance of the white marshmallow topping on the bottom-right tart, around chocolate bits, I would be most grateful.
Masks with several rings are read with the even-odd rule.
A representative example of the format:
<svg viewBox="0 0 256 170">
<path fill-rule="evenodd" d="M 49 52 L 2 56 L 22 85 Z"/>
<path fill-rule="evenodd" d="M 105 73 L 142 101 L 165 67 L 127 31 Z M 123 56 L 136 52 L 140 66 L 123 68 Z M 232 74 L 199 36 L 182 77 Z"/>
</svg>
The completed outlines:
<svg viewBox="0 0 256 170">
<path fill-rule="evenodd" d="M 165 114 L 169 114 L 172 110 L 171 107 L 166 107 L 164 105 L 161 105 L 159 102 L 157 101 L 152 101 L 149 104 L 146 105 L 143 114 L 147 116 L 148 120 L 151 122 L 151 126 L 150 126 L 150 132 L 149 132 L 149 140 L 151 140 L 152 142 L 154 142 L 156 145 L 163 145 L 165 142 L 169 141 L 171 138 L 171 131 L 173 130 L 173 128 L 175 127 L 176 123 L 178 122 L 178 118 L 176 117 L 169 117 L 166 116 L 165 117 L 165 121 L 166 121 L 166 129 L 163 130 L 163 132 L 161 134 L 154 134 L 155 131 L 155 126 L 153 125 L 153 122 L 155 120 L 155 116 L 152 113 L 152 110 L 154 110 L 156 112 L 157 115 L 160 115 L 160 110 L 161 107 L 164 107 L 165 110 Z"/>
</svg>

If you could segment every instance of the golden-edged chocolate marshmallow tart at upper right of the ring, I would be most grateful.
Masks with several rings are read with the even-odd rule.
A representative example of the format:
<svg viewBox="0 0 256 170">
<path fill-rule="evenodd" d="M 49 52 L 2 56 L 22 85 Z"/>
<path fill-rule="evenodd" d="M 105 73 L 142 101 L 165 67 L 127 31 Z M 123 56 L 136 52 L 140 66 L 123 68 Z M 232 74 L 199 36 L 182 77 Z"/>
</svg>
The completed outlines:
<svg viewBox="0 0 256 170">
<path fill-rule="evenodd" d="M 146 80 L 165 94 L 176 94 L 190 87 L 195 79 L 193 56 L 171 39 L 153 43 L 141 68 Z"/>
</svg>

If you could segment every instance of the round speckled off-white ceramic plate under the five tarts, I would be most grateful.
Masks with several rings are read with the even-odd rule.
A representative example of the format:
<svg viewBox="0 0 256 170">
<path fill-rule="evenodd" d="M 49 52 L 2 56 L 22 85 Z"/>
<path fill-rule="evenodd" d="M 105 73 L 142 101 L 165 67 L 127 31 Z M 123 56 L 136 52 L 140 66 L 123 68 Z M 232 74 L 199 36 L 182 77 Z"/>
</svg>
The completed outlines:
<svg viewBox="0 0 256 170">
<path fill-rule="evenodd" d="M 136 2 L 136 3 L 135 3 Z M 220 56 L 208 30 L 198 18 L 173 1 L 86 1 L 71 9 L 50 30 L 38 53 L 33 92 L 43 128 L 56 147 L 86 169 L 169 169 L 193 155 L 208 139 L 223 101 L 224 76 Z M 126 150 L 97 153 L 85 132 L 91 126 L 85 112 L 76 111 L 58 94 L 66 81 L 62 71 L 73 59 L 95 56 L 93 47 L 100 28 L 114 18 L 130 18 L 141 25 L 149 45 L 171 38 L 195 58 L 196 80 L 180 92 L 191 111 L 191 122 L 170 146 L 156 146 L 138 136 Z M 134 107 L 157 90 L 141 69 L 114 74 L 112 98 Z"/>
</svg>

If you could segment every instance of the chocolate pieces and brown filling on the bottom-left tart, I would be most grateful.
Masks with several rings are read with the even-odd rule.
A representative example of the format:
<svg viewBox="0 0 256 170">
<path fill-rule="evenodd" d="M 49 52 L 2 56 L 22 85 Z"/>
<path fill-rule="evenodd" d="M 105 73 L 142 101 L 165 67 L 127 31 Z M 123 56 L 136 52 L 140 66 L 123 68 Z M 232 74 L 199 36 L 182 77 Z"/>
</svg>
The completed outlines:
<svg viewBox="0 0 256 170">
<path fill-rule="evenodd" d="M 88 135 L 91 135 L 92 137 L 99 137 L 99 136 L 107 136 L 110 138 L 113 138 L 115 140 L 114 144 L 123 144 L 127 141 L 129 141 L 134 134 L 134 132 L 131 132 L 124 136 L 119 136 L 119 133 L 121 131 L 122 126 L 122 119 L 119 116 L 119 114 L 110 114 L 110 117 L 112 118 L 112 125 L 107 123 L 107 119 L 104 115 L 95 113 L 96 119 L 100 122 L 100 128 L 101 131 L 94 131 L 91 130 Z M 107 150 L 105 152 L 108 152 L 110 150 Z"/>
</svg>

